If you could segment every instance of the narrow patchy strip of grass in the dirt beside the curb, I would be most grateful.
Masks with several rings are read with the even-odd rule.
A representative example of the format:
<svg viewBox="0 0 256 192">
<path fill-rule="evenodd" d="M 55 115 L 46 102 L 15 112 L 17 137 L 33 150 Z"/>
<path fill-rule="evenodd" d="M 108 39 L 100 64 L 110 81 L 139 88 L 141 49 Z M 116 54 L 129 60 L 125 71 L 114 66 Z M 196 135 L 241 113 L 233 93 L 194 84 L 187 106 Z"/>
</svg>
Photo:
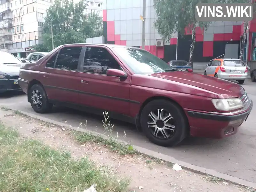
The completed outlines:
<svg viewBox="0 0 256 192">
<path fill-rule="evenodd" d="M 72 134 L 75 137 L 75 140 L 77 140 L 82 144 L 86 142 L 99 143 L 102 145 L 106 145 L 112 151 L 120 153 L 121 155 L 126 155 L 126 154 L 133 155 L 133 154 L 139 153 L 138 151 L 133 149 L 132 145 L 126 145 L 124 143 L 120 143 L 115 138 L 112 138 L 112 137 L 109 137 L 108 139 L 106 139 L 99 135 L 93 135 L 92 133 L 84 133 L 84 132 L 78 132 L 78 131 L 73 131 Z"/>
</svg>

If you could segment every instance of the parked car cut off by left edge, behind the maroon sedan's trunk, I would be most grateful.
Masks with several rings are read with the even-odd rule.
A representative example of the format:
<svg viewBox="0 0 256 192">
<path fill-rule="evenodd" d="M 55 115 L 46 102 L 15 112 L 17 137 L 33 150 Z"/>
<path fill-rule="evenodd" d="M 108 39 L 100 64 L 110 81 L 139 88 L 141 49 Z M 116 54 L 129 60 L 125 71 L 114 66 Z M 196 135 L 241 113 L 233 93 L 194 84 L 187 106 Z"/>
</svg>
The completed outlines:
<svg viewBox="0 0 256 192">
<path fill-rule="evenodd" d="M 0 93 L 21 90 L 18 81 L 21 64 L 11 53 L 0 51 Z"/>
</svg>

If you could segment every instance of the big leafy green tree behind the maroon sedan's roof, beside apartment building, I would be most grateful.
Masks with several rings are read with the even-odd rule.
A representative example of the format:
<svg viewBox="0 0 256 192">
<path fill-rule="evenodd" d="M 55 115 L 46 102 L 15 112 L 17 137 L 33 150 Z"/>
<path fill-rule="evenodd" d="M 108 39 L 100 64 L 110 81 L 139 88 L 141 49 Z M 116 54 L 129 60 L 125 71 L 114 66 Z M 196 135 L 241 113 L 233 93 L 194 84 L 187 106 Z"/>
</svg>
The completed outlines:
<svg viewBox="0 0 256 192">
<path fill-rule="evenodd" d="M 84 1 L 56 0 L 49 7 L 44 23 L 42 44 L 37 44 L 36 51 L 52 50 L 52 34 L 54 48 L 62 44 L 85 43 L 86 38 L 100 36 L 103 33 L 102 19 L 98 14 L 85 14 Z M 52 26 L 52 33 L 51 33 Z"/>
</svg>

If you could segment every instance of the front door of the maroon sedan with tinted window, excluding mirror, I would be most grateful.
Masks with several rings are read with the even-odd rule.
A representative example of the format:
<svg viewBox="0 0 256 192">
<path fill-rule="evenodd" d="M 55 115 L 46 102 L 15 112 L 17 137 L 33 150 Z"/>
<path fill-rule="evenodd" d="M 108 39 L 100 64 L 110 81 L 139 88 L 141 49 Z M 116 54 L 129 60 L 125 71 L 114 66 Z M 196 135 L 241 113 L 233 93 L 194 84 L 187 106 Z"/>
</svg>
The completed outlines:
<svg viewBox="0 0 256 192">
<path fill-rule="evenodd" d="M 108 68 L 122 69 L 117 57 L 104 46 L 87 46 L 81 66 L 79 101 L 82 105 L 129 115 L 131 76 L 107 76 Z"/>
</svg>

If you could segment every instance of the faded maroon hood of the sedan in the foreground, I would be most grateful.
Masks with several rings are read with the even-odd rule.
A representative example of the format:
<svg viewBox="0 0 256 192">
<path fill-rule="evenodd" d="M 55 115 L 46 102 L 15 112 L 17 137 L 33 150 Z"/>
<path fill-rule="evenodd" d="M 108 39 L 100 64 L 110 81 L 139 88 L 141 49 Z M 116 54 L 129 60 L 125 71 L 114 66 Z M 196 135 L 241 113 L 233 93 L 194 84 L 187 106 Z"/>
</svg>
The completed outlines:
<svg viewBox="0 0 256 192">
<path fill-rule="evenodd" d="M 215 77 L 204 76 L 197 73 L 172 71 L 166 73 L 154 73 L 150 74 L 150 76 L 196 86 L 211 92 L 218 93 L 224 98 L 242 97 L 244 95 L 244 88 L 239 84 Z"/>
</svg>

